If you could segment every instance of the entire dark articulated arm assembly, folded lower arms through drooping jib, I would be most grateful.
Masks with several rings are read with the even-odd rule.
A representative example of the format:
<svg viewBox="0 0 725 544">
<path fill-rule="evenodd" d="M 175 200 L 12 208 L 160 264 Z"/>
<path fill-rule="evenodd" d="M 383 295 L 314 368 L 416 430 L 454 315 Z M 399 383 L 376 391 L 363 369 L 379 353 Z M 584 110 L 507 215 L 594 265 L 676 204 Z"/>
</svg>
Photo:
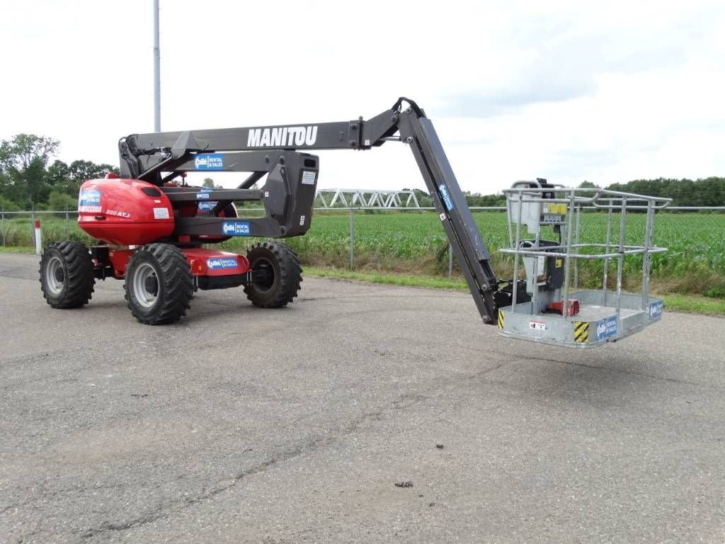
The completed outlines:
<svg viewBox="0 0 725 544">
<path fill-rule="evenodd" d="M 403 102 L 409 106 L 405 110 Z M 386 141 L 410 144 L 476 307 L 486 323 L 494 323 L 497 279 L 489 252 L 431 120 L 410 99 L 401 97 L 390 110 L 369 120 L 132 134 L 119 142 L 121 176 L 159 186 L 172 202 L 190 202 L 197 199 L 198 190 L 177 190 L 164 182 L 197 170 L 195 159 L 220 154 L 215 157 L 221 163 L 218 170 L 252 174 L 238 189 L 207 191 L 204 198 L 219 202 L 212 211 L 218 213 L 233 200 L 260 199 L 266 218 L 231 221 L 247 223 L 249 236 L 299 236 L 310 226 L 319 161 L 297 150 L 371 149 Z M 162 176 L 163 172 L 171 174 Z M 249 190 L 265 175 L 262 189 Z M 219 234 L 222 221 L 230 220 L 177 217 L 175 235 Z"/>
</svg>

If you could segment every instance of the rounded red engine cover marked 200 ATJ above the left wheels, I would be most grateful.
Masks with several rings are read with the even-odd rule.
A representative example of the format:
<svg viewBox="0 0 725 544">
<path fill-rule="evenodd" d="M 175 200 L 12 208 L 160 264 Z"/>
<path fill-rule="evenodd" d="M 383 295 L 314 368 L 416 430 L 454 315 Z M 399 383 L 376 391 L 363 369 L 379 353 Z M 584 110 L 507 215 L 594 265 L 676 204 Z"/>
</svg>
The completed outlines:
<svg viewBox="0 0 725 544">
<path fill-rule="evenodd" d="M 170 236 L 174 212 L 168 197 L 157 186 L 109 174 L 80 186 L 78 225 L 108 244 L 149 244 Z"/>
</svg>

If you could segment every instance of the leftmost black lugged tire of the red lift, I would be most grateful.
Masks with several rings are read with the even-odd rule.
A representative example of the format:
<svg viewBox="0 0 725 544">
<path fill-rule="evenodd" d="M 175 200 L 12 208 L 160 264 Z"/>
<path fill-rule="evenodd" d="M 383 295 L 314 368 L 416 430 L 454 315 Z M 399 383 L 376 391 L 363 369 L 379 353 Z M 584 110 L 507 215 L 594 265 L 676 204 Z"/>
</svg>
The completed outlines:
<svg viewBox="0 0 725 544">
<path fill-rule="evenodd" d="M 43 297 L 52 308 L 80 308 L 93 296 L 93 261 L 83 244 L 66 240 L 49 245 L 38 272 Z"/>
</svg>

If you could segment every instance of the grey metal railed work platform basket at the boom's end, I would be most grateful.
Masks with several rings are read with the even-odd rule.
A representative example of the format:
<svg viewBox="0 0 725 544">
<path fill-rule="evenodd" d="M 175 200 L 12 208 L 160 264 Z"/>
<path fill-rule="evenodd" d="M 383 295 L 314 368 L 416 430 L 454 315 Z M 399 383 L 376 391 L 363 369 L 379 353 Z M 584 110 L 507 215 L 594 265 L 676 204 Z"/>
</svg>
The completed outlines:
<svg viewBox="0 0 725 544">
<path fill-rule="evenodd" d="M 649 294 L 650 266 L 653 254 L 667 251 L 653 245 L 653 239 L 656 212 L 670 199 L 567 188 L 545 180 L 518 181 L 503 192 L 510 244 L 500 252 L 513 255 L 514 280 L 511 304 L 498 311 L 500 334 L 587 348 L 614 342 L 660 320 L 663 302 Z M 597 213 L 606 217 L 605 239 L 582 243 L 582 215 L 591 221 Z M 645 216 L 639 245 L 632 245 L 631 235 L 629 240 L 627 236 L 627 218 L 634 214 Z M 525 238 L 524 230 L 530 238 Z M 547 231 L 558 240 L 545 240 Z M 640 289 L 636 294 L 623 292 L 624 264 L 637 255 L 642 258 Z M 581 260 L 603 261 L 600 287 L 579 289 Z M 519 278 L 522 265 L 526 279 Z M 615 266 L 616 289 L 608 289 L 610 268 Z"/>
</svg>

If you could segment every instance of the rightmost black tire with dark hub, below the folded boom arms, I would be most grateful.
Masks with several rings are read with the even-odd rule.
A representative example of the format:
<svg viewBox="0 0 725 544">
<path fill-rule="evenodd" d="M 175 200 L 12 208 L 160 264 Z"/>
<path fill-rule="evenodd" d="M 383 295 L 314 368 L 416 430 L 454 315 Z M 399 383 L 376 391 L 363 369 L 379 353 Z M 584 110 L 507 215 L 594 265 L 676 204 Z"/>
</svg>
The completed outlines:
<svg viewBox="0 0 725 544">
<path fill-rule="evenodd" d="M 247 252 L 252 270 L 267 268 L 270 278 L 265 283 L 244 286 L 244 292 L 252 304 L 260 308 L 281 308 L 297 297 L 302 283 L 302 266 L 299 257 L 287 244 L 262 242 L 254 244 Z"/>
</svg>

